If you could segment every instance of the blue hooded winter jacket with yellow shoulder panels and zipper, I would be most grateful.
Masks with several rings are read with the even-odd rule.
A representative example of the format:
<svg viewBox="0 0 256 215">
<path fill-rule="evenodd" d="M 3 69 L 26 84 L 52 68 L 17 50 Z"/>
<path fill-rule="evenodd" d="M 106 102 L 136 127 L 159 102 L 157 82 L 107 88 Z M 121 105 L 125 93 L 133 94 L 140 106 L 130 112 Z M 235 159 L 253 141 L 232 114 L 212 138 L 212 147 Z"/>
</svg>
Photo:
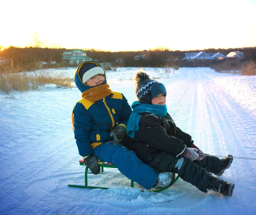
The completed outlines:
<svg viewBox="0 0 256 215">
<path fill-rule="evenodd" d="M 78 66 L 74 74 L 76 86 L 81 93 L 93 87 L 83 83 L 78 75 L 83 63 Z M 95 64 L 100 66 L 98 63 Z M 105 82 L 102 84 L 106 83 L 105 76 Z M 113 140 L 110 136 L 112 129 L 116 126 L 126 127 L 131 113 L 131 107 L 125 96 L 119 92 L 112 92 L 111 95 L 96 102 L 85 98 L 79 100 L 73 109 L 74 134 L 79 155 L 90 155 L 96 146 Z"/>
</svg>

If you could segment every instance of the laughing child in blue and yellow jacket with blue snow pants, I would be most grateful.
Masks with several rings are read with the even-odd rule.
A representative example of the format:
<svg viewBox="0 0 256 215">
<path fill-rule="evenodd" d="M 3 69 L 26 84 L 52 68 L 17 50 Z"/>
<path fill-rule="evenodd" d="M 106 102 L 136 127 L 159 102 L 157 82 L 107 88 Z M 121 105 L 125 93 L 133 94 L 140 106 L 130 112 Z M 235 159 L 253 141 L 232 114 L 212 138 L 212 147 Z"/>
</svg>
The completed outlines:
<svg viewBox="0 0 256 215">
<path fill-rule="evenodd" d="M 171 172 L 159 174 L 119 144 L 132 110 L 122 93 L 111 91 L 99 63 L 82 62 L 74 80 L 82 98 L 73 108 L 73 131 L 79 155 L 91 172 L 99 174 L 100 159 L 113 163 L 123 175 L 145 189 L 169 186 Z"/>
</svg>

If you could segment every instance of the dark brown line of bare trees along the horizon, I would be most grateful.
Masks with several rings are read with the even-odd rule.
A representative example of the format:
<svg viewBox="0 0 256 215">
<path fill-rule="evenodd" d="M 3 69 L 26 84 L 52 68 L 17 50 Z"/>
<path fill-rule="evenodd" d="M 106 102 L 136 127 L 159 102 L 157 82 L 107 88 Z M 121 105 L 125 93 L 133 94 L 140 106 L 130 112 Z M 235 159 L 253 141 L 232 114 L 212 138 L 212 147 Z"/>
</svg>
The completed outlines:
<svg viewBox="0 0 256 215">
<path fill-rule="evenodd" d="M 23 63 L 31 64 L 35 62 L 51 62 L 63 63 L 62 53 L 70 52 L 71 49 L 64 48 L 40 48 L 40 47 L 25 47 L 19 48 L 10 46 L 0 52 L 0 57 L 5 57 L 11 60 L 14 64 Z M 170 66 L 177 64 L 186 52 L 201 52 L 201 50 L 189 51 L 172 51 L 166 48 L 149 49 L 147 58 L 141 60 L 134 60 L 134 57 L 141 54 L 141 51 L 127 51 L 127 52 L 105 52 L 95 49 L 84 49 L 87 56 L 99 63 L 115 63 L 121 58 L 123 60 L 122 66 L 151 66 L 160 67 L 165 66 L 166 63 Z M 230 52 L 244 52 L 248 60 L 256 60 L 256 46 L 245 48 L 230 48 L 230 49 L 205 49 L 206 53 L 217 53 L 227 55 Z M 118 63 L 116 63 L 118 64 Z M 121 65 L 120 65 L 121 66 Z"/>
</svg>

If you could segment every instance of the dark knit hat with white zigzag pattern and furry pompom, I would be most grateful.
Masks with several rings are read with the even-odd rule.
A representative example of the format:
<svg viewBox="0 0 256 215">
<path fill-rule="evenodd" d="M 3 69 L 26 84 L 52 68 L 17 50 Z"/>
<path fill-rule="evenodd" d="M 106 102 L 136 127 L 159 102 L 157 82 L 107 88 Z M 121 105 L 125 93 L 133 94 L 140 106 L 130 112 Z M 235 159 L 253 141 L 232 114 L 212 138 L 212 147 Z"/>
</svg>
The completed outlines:
<svg viewBox="0 0 256 215">
<path fill-rule="evenodd" d="M 156 80 L 150 79 L 147 73 L 137 72 L 135 81 L 135 92 L 140 103 L 152 104 L 152 98 L 159 94 L 163 94 L 166 97 L 166 89 L 164 85 Z"/>
</svg>

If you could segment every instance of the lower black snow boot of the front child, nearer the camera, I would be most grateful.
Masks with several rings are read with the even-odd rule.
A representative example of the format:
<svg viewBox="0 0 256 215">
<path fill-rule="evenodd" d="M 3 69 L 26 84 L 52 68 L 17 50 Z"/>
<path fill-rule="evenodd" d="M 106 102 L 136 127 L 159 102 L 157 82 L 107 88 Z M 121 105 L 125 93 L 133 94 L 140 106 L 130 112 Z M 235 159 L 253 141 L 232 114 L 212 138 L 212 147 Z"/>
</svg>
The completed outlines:
<svg viewBox="0 0 256 215">
<path fill-rule="evenodd" d="M 222 180 L 220 178 L 216 178 L 212 175 L 209 177 L 209 181 L 211 181 L 211 184 L 208 187 L 208 189 L 211 189 L 215 192 L 220 192 L 223 195 L 226 195 L 226 196 L 229 196 L 229 197 L 232 196 L 233 189 L 235 187 L 234 183 L 224 181 L 224 180 Z"/>
</svg>

